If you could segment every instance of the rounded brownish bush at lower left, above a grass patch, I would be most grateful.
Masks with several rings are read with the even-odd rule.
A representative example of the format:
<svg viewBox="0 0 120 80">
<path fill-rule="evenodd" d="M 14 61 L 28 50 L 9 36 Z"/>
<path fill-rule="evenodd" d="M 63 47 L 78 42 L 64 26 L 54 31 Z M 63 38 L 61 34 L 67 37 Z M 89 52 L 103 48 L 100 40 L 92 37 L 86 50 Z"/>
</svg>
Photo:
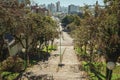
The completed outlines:
<svg viewBox="0 0 120 80">
<path fill-rule="evenodd" d="M 2 62 L 2 71 L 21 72 L 24 70 L 24 61 L 18 56 L 8 57 Z"/>
</svg>

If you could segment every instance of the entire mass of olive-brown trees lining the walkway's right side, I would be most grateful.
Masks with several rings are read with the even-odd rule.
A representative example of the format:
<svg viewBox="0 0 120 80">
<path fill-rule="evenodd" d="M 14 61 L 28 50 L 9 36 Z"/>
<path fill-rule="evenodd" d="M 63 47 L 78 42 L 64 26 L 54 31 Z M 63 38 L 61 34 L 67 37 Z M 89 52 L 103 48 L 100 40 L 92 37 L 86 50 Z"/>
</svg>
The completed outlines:
<svg viewBox="0 0 120 80">
<path fill-rule="evenodd" d="M 88 45 L 90 41 L 92 52 L 95 45 L 97 51 L 102 51 L 106 63 L 117 62 L 120 56 L 120 1 L 105 0 L 109 2 L 104 9 L 100 9 L 98 4 L 95 6 L 95 16 L 89 11 L 85 11 L 84 19 L 81 20 L 81 26 L 74 31 L 75 40 L 78 45 Z M 92 57 L 92 55 L 91 55 Z M 112 70 L 106 68 L 106 80 L 111 80 Z"/>
</svg>

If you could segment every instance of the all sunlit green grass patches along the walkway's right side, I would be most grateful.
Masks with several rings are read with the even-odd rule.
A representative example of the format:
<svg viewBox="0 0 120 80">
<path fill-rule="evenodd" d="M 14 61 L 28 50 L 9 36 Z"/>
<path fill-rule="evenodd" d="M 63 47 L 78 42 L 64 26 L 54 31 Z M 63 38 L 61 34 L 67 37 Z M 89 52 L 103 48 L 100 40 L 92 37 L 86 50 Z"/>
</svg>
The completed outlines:
<svg viewBox="0 0 120 80">
<path fill-rule="evenodd" d="M 81 48 L 76 48 L 75 51 L 78 55 L 84 56 L 85 51 L 81 51 Z M 84 59 L 83 59 L 84 60 Z M 89 80 L 105 80 L 105 74 L 106 74 L 106 63 L 100 63 L 100 62 L 92 62 L 92 65 L 94 66 L 91 70 L 90 64 L 87 61 L 82 61 L 83 69 L 88 72 L 88 75 L 90 76 Z M 98 79 L 101 78 L 101 79 Z M 116 66 L 113 70 L 112 79 L 111 80 L 120 80 L 120 66 Z"/>
</svg>

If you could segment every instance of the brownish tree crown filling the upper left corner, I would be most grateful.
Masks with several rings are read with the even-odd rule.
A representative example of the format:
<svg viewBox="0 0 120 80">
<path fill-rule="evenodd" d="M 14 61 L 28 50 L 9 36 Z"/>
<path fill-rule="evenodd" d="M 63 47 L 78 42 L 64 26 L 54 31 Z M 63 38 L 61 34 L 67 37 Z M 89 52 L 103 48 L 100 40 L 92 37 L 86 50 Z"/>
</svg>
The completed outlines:
<svg viewBox="0 0 120 80">
<path fill-rule="evenodd" d="M 15 35 L 18 22 L 24 16 L 24 6 L 17 0 L 0 1 L 0 54 L 2 54 L 3 45 L 5 44 L 4 35 L 6 33 Z M 1 55 L 2 56 L 2 55 Z"/>
</svg>

